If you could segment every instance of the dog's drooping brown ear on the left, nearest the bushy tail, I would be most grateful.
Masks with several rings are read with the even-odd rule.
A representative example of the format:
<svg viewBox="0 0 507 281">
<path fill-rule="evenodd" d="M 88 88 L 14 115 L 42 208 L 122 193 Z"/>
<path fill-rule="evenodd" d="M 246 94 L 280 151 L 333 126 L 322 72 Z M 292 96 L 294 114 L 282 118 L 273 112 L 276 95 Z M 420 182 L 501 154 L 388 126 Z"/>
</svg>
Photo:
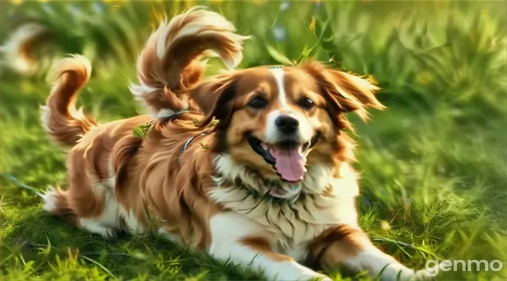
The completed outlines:
<svg viewBox="0 0 507 281">
<path fill-rule="evenodd" d="M 204 113 L 201 126 L 207 126 L 213 119 L 218 120 L 216 128 L 227 126 L 234 110 L 235 96 L 236 83 L 233 74 L 222 74 L 197 84 L 190 91 L 190 97 Z"/>
</svg>

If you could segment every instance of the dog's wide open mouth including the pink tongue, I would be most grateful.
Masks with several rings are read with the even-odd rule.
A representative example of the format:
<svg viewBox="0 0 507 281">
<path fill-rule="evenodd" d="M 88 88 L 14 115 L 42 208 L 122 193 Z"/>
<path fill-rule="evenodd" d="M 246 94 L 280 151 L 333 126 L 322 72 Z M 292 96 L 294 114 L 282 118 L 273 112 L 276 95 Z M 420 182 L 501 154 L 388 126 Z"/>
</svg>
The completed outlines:
<svg viewBox="0 0 507 281">
<path fill-rule="evenodd" d="M 306 152 L 318 141 L 318 134 L 306 143 L 292 141 L 268 144 L 249 134 L 247 137 L 253 151 L 264 158 L 264 161 L 276 171 L 282 181 L 299 183 L 306 173 Z"/>
</svg>

